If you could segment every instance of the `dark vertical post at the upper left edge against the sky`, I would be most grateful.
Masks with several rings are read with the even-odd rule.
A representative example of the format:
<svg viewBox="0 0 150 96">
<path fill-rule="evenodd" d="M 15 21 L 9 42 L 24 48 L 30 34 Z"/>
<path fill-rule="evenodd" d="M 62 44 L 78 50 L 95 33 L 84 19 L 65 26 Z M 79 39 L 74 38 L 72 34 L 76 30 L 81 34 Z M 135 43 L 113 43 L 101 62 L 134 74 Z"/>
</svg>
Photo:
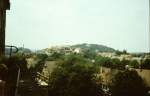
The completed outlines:
<svg viewBox="0 0 150 96">
<path fill-rule="evenodd" d="M 0 0 L 0 57 L 5 55 L 6 10 L 9 9 L 9 0 Z"/>
</svg>

